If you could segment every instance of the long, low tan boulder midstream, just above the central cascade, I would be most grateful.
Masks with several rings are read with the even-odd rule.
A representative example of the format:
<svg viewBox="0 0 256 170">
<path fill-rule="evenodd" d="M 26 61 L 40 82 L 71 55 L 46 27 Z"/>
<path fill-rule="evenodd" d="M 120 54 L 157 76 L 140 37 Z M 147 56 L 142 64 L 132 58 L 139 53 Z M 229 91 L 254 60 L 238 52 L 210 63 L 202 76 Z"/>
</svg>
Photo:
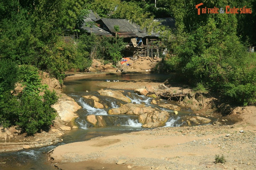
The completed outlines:
<svg viewBox="0 0 256 170">
<path fill-rule="evenodd" d="M 118 108 L 112 108 L 108 110 L 109 115 L 119 115 L 119 114 L 133 114 L 133 115 L 142 115 L 145 113 L 150 113 L 156 109 L 151 107 L 146 107 L 142 104 L 133 104 L 128 103 Z"/>
</svg>

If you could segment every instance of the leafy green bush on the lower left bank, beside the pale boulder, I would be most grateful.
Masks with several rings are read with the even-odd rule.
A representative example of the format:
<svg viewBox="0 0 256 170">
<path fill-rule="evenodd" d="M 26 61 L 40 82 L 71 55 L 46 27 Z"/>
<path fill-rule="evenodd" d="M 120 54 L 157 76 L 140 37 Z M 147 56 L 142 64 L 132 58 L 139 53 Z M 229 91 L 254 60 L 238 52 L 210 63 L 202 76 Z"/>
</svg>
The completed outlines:
<svg viewBox="0 0 256 170">
<path fill-rule="evenodd" d="M 18 68 L 10 60 L 1 60 L 0 66 L 0 74 L 4 75 L 4 79 L 0 79 L 0 123 L 3 127 L 19 125 L 28 135 L 49 128 L 56 117 L 51 105 L 58 97 L 56 92 L 48 90 L 43 97 L 39 95 L 47 86 L 41 84 L 38 69 L 28 65 Z M 13 95 L 11 91 L 18 80 L 24 88 L 21 94 Z"/>
</svg>

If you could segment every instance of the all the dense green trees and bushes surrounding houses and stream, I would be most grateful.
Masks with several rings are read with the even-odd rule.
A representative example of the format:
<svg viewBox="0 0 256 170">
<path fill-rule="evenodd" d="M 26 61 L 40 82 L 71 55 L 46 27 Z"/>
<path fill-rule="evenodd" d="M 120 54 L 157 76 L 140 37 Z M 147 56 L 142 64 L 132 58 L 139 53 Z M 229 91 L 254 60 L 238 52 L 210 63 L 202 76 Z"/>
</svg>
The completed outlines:
<svg viewBox="0 0 256 170">
<path fill-rule="evenodd" d="M 207 8 L 252 8 L 252 14 L 236 15 L 197 15 L 195 5 L 201 2 L 157 0 L 155 8 L 153 0 L 1 0 L 0 124 L 19 125 L 28 135 L 52 124 L 51 105 L 58 98 L 41 84 L 39 70 L 62 82 L 65 71 L 90 67 L 92 51 L 105 63 L 120 61 L 122 38 L 88 35 L 81 29 L 89 9 L 102 18 L 125 18 L 149 32 L 161 32 L 170 53 L 159 63 L 160 71 L 176 71 L 195 89 L 209 87 L 232 103 L 255 105 L 256 53 L 247 49 L 256 46 L 256 1 L 203 2 Z M 164 17 L 175 17 L 175 30 L 152 22 Z M 95 23 L 85 24 L 92 28 Z M 18 81 L 24 89 L 14 95 Z"/>
</svg>

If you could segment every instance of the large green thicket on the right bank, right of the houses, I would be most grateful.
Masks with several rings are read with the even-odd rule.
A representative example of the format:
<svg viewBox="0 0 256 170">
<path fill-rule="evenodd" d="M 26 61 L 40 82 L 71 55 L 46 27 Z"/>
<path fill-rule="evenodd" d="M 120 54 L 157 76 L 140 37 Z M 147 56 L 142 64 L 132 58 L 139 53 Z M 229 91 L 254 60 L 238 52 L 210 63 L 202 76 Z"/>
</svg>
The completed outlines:
<svg viewBox="0 0 256 170">
<path fill-rule="evenodd" d="M 180 6 L 177 6 L 177 3 Z M 167 71 L 177 71 L 190 83 L 203 82 L 223 97 L 242 105 L 256 104 L 256 57 L 247 50 L 248 40 L 238 36 L 242 18 L 253 14 L 204 14 L 197 15 L 195 4 L 199 1 L 170 2 L 176 18 L 175 38 L 166 35 L 172 55 L 161 63 Z M 214 6 L 255 6 L 250 1 L 207 2 Z M 238 20 L 240 23 L 238 24 Z M 242 22 L 242 25 L 246 24 Z M 244 28 L 245 29 L 245 28 Z M 244 30 L 243 29 L 243 30 Z M 240 31 L 241 32 L 241 31 Z M 245 31 L 243 31 L 245 33 Z M 249 43 L 255 43 L 253 33 L 247 34 Z M 164 71 L 164 70 L 162 70 Z"/>
</svg>

